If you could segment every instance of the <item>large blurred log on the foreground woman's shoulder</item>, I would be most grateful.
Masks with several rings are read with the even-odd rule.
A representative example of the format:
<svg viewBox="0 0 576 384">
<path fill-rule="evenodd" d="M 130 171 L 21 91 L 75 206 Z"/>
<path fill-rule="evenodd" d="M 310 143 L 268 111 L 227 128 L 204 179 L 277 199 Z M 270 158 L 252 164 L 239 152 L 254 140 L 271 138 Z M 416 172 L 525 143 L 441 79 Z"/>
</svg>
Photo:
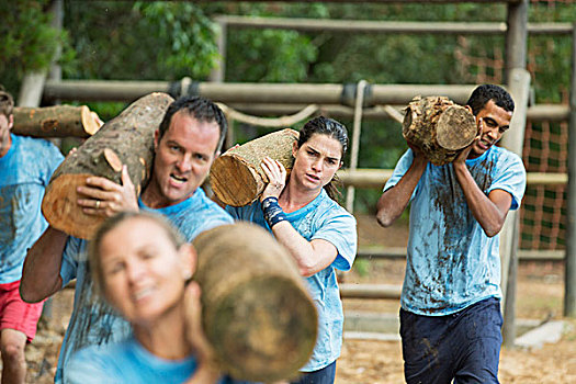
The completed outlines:
<svg viewBox="0 0 576 384">
<path fill-rule="evenodd" d="M 203 328 L 223 371 L 250 382 L 294 377 L 310 358 L 318 319 L 285 248 L 249 223 L 216 227 L 193 244 Z"/>
</svg>

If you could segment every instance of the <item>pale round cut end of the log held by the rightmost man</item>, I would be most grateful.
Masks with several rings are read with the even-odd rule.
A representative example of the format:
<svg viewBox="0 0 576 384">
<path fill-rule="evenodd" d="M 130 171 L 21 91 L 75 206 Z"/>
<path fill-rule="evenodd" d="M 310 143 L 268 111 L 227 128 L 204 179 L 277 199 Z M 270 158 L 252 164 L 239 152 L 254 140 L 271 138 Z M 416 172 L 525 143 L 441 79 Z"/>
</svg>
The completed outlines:
<svg viewBox="0 0 576 384">
<path fill-rule="evenodd" d="M 476 137 L 476 120 L 463 106 L 449 106 L 437 123 L 438 144 L 448 150 L 467 147 Z"/>
</svg>

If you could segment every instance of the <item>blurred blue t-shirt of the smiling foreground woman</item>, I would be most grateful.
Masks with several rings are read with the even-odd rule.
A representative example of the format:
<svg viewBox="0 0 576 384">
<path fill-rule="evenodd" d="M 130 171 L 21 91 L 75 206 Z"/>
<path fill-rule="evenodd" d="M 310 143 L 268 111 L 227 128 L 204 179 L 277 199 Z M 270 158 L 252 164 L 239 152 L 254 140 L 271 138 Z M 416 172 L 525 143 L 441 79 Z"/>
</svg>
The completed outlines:
<svg viewBox="0 0 576 384">
<path fill-rule="evenodd" d="M 137 340 L 90 346 L 72 355 L 65 382 L 71 384 L 183 383 L 196 370 L 193 357 L 166 360 L 148 352 Z"/>
</svg>

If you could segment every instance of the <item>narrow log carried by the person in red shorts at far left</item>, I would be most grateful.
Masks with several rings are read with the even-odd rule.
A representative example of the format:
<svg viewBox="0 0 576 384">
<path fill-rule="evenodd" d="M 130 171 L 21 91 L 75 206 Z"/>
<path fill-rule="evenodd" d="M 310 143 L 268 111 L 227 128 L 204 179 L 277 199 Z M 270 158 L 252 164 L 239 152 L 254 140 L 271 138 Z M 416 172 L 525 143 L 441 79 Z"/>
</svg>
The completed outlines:
<svg viewBox="0 0 576 384">
<path fill-rule="evenodd" d="M 100 129 L 102 121 L 86 105 L 14 108 L 16 135 L 33 137 L 90 137 Z"/>
</svg>

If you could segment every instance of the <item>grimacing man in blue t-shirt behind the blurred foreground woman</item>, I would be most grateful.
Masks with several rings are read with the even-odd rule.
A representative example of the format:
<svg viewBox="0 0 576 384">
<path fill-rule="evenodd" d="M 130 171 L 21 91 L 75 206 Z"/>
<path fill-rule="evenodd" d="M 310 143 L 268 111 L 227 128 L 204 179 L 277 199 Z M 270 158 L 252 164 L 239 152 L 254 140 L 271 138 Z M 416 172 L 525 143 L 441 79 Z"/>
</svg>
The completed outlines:
<svg viewBox="0 0 576 384">
<path fill-rule="evenodd" d="M 123 166 L 121 184 L 105 178 L 88 178 L 87 185 L 78 188 L 78 204 L 94 217 L 112 216 L 121 211 L 156 211 L 166 215 L 188 241 L 203 230 L 231 223 L 231 217 L 199 188 L 219 155 L 226 127 L 223 112 L 213 102 L 197 97 L 174 101 L 155 132 L 150 181 L 139 199 Z M 125 320 L 103 302 L 94 300 L 86 258 L 87 242 L 50 226 L 29 251 L 24 263 L 21 294 L 26 302 L 42 301 L 70 280 L 77 280 L 56 383 L 67 381 L 66 363 L 71 353 L 89 345 L 122 340 L 129 332 Z"/>
</svg>

